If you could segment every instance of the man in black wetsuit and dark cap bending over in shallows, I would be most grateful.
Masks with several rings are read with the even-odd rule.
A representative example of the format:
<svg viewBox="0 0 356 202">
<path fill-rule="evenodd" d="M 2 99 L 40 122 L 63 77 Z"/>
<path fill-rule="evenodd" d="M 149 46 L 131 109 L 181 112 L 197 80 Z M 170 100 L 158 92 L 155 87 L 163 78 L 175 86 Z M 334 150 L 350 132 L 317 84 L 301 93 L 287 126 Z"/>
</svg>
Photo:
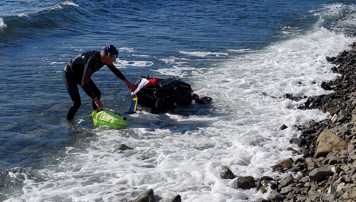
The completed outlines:
<svg viewBox="0 0 356 202">
<path fill-rule="evenodd" d="M 129 89 L 135 88 L 135 85 L 129 82 L 120 70 L 112 64 L 112 62 L 116 61 L 118 53 L 119 51 L 113 45 L 106 45 L 101 52 L 92 50 L 81 53 L 73 60 L 70 60 L 64 68 L 63 80 L 72 99 L 72 107 L 69 108 L 67 113 L 68 120 L 74 118 L 75 113 L 77 113 L 80 105 L 82 105 L 77 84 L 93 99 L 93 109 L 103 110 L 103 103 L 100 102 L 101 92 L 90 77 L 91 74 L 98 71 L 104 65 L 124 81 Z"/>
</svg>

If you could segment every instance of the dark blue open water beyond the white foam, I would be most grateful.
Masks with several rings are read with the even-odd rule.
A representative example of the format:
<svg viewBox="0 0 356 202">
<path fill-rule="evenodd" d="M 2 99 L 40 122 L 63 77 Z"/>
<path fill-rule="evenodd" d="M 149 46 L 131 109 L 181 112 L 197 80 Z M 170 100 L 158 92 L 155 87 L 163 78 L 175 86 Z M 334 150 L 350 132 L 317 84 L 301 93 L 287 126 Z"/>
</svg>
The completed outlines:
<svg viewBox="0 0 356 202">
<path fill-rule="evenodd" d="M 344 9 L 334 15 L 328 5 Z M 355 14 L 349 6 L 354 1 L 2 0 L 0 198 L 21 193 L 18 182 L 8 180 L 9 170 L 54 165 L 65 147 L 94 135 L 91 101 L 83 91 L 75 120 L 64 120 L 71 101 L 62 71 L 81 51 L 107 44 L 122 48 L 116 66 L 135 82 L 141 75 L 159 75 L 156 70 L 169 66 L 166 58 L 185 58 L 195 69 L 216 64 L 214 55 L 201 60 L 180 51 L 229 53 L 227 59 L 244 54 L 232 50 L 258 50 L 321 26 L 352 35 L 355 26 L 338 26 Z M 329 13 L 326 21 L 319 22 L 319 12 Z M 132 65 L 136 61 L 154 65 Z M 110 70 L 103 67 L 92 78 L 104 108 L 121 113 L 129 108 L 130 91 Z"/>
</svg>

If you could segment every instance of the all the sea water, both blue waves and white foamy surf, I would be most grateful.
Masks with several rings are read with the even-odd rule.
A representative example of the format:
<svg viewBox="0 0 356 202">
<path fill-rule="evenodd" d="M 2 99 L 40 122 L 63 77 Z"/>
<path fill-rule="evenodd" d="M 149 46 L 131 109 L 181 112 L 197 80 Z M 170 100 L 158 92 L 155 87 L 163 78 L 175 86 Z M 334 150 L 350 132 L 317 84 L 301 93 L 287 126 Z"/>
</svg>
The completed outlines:
<svg viewBox="0 0 356 202">
<path fill-rule="evenodd" d="M 291 126 L 330 114 L 278 97 L 331 93 L 320 87 L 338 76 L 325 57 L 350 49 L 356 33 L 351 0 L 3 0 L 0 8 L 1 201 L 128 201 L 147 189 L 156 201 L 266 198 L 271 190 L 233 189 L 221 165 L 236 177 L 287 175 L 271 166 L 299 157 L 286 151 L 300 136 Z M 174 76 L 213 103 L 159 115 L 139 107 L 114 130 L 93 125 L 79 87 L 82 107 L 67 122 L 64 66 L 107 44 L 129 81 Z M 105 109 L 129 109 L 129 89 L 108 68 L 91 78 Z M 121 143 L 133 150 L 117 151 Z"/>
</svg>

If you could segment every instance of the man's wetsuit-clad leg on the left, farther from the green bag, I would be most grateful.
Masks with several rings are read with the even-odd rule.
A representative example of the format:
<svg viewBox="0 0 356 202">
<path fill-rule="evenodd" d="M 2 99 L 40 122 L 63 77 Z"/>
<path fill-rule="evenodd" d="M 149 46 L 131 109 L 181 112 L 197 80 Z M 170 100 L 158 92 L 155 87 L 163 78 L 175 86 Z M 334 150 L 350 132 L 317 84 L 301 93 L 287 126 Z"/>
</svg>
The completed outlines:
<svg viewBox="0 0 356 202">
<path fill-rule="evenodd" d="M 66 84 L 68 94 L 72 99 L 72 106 L 69 108 L 67 113 L 67 119 L 72 120 L 74 118 L 75 113 L 77 113 L 82 102 L 80 101 L 79 90 L 77 86 L 77 82 L 75 82 L 74 78 L 70 76 L 70 73 L 63 72 L 63 81 Z"/>
</svg>

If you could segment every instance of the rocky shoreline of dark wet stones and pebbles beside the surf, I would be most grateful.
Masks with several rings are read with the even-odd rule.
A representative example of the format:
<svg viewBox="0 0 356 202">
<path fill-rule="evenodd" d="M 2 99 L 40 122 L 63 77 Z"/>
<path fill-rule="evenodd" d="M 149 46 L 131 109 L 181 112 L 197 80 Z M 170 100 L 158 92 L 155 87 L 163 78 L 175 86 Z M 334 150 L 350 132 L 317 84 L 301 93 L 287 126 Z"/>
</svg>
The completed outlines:
<svg viewBox="0 0 356 202">
<path fill-rule="evenodd" d="M 325 90 L 331 94 L 313 97 L 294 97 L 284 94 L 280 98 L 306 100 L 298 108 L 320 109 L 331 114 L 331 119 L 310 120 L 306 126 L 292 126 L 300 131 L 298 138 L 290 143 L 298 146 L 298 151 L 287 148 L 302 158 L 288 158 L 272 166 L 272 170 L 289 173 L 283 179 L 263 176 L 237 177 L 222 165 L 220 177 L 233 179 L 234 189 L 257 189 L 263 193 L 272 190 L 267 199 L 257 202 L 353 202 L 356 201 L 356 42 L 350 50 L 344 50 L 337 57 L 326 57 L 334 64 L 332 71 L 341 76 L 329 83 L 322 82 Z M 281 126 L 281 130 L 286 129 Z M 126 148 L 127 149 L 127 148 Z M 119 149 L 125 150 L 125 149 Z M 294 174 L 294 176 L 292 175 Z M 284 175 L 285 176 L 285 175 Z M 295 177 L 297 176 L 297 177 Z M 248 200 L 248 199 L 246 199 Z M 132 202 L 154 202 L 152 189 L 133 198 Z M 160 200 L 161 201 L 161 200 Z M 164 200 L 162 200 L 164 201 Z M 181 202 L 179 195 L 169 202 Z"/>
</svg>

